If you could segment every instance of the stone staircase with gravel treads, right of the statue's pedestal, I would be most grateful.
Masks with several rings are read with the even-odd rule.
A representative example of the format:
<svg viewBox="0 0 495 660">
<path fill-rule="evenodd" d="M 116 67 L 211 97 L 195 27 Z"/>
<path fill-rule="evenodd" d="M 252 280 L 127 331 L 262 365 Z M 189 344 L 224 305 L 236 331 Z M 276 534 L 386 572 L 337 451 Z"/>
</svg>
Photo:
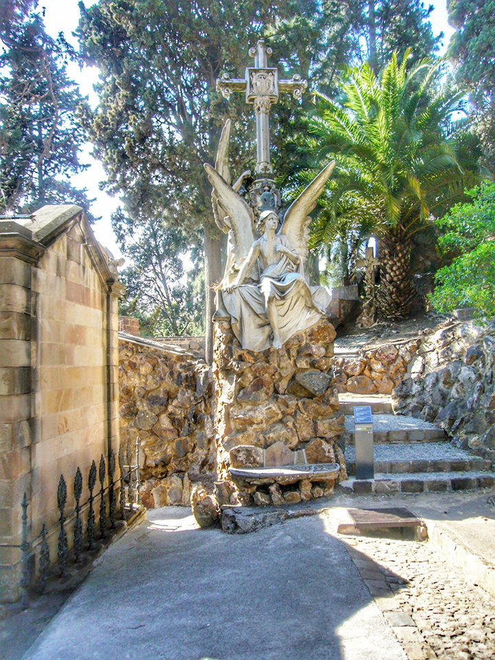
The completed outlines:
<svg viewBox="0 0 495 660">
<path fill-rule="evenodd" d="M 345 456 L 349 480 L 340 483 L 355 494 L 455 492 L 492 487 L 492 461 L 454 447 L 432 423 L 393 415 L 391 397 L 341 394 L 346 415 Z M 355 478 L 353 406 L 371 406 L 375 478 Z"/>
</svg>

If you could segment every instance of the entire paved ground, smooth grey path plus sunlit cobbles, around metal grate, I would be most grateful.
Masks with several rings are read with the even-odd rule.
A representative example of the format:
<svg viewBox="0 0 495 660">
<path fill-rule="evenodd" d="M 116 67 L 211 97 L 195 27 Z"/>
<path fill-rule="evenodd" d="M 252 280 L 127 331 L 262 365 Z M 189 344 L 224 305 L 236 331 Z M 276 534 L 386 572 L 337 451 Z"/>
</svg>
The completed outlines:
<svg viewBox="0 0 495 660">
<path fill-rule="evenodd" d="M 239 536 L 149 511 L 23 660 L 491 659 L 489 494 L 336 494 L 319 516 Z M 432 540 L 338 535 L 348 507 L 391 506 L 423 517 Z"/>
</svg>

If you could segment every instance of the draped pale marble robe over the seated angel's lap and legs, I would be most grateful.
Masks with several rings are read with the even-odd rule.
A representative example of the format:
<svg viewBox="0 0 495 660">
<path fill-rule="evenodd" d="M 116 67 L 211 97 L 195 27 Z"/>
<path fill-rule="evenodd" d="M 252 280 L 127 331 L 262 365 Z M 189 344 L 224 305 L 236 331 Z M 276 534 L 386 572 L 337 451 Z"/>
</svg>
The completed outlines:
<svg viewBox="0 0 495 660">
<path fill-rule="evenodd" d="M 286 236 L 282 243 L 292 249 Z M 303 263 L 295 264 L 282 254 L 278 263 L 267 266 L 261 272 L 259 282 L 243 284 L 232 293 L 220 291 L 221 302 L 230 314 L 232 331 L 243 349 L 258 353 L 272 346 L 272 326 L 266 314 L 265 300 L 274 296 L 281 342 L 298 332 L 315 325 L 322 314 L 308 307 L 301 293 L 307 287 Z M 325 287 L 309 287 L 313 300 L 323 309 L 328 307 L 331 296 Z"/>
</svg>

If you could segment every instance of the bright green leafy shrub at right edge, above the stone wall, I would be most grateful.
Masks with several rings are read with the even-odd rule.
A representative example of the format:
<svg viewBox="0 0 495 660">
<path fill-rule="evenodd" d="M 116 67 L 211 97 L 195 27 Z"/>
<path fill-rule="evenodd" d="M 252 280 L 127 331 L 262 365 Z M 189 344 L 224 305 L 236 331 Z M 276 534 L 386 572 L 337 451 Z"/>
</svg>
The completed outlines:
<svg viewBox="0 0 495 660">
<path fill-rule="evenodd" d="M 480 316 L 495 316 L 495 184 L 468 192 L 470 203 L 458 204 L 437 224 L 444 252 L 456 254 L 437 272 L 430 300 L 438 311 L 474 307 Z"/>
</svg>

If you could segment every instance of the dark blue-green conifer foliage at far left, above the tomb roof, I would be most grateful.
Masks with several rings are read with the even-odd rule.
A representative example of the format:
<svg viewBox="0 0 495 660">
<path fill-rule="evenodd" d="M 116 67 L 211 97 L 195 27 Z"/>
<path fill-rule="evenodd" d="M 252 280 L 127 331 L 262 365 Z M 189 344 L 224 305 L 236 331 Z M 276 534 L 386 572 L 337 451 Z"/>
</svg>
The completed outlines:
<svg viewBox="0 0 495 660">
<path fill-rule="evenodd" d="M 87 103 L 67 76 L 74 57 L 59 36 L 48 36 L 32 2 L 10 2 L 0 16 L 0 210 L 31 212 L 43 204 L 78 203 L 85 190 L 70 179 L 85 134 Z"/>
</svg>

